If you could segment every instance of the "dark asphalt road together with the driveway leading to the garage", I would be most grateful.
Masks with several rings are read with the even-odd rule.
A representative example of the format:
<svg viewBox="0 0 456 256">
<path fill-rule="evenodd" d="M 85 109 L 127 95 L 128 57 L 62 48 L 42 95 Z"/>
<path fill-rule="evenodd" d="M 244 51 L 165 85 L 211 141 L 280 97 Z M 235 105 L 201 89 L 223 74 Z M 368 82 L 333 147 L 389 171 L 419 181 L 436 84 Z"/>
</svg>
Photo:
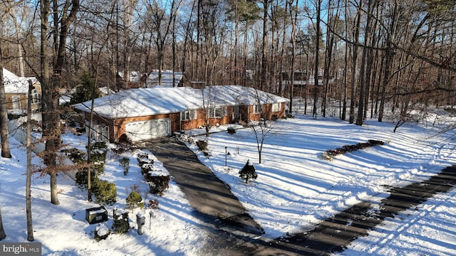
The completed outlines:
<svg viewBox="0 0 456 256">
<path fill-rule="evenodd" d="M 162 138 L 146 144 L 174 181 L 182 188 L 197 215 L 214 228 L 207 229 L 208 243 L 204 255 L 330 255 L 341 252 L 356 238 L 367 235 L 385 218 L 393 218 L 427 201 L 435 193 L 445 193 L 456 185 L 456 166 L 443 169 L 427 181 L 405 188 L 390 188 L 390 196 L 383 199 L 378 211 L 370 203 L 362 202 L 337 215 L 323 220 L 307 233 L 274 241 L 255 239 L 261 235 L 259 225 L 247 214 L 229 187 L 197 156 L 176 139 Z M 375 209 L 378 209 L 376 207 Z"/>
</svg>

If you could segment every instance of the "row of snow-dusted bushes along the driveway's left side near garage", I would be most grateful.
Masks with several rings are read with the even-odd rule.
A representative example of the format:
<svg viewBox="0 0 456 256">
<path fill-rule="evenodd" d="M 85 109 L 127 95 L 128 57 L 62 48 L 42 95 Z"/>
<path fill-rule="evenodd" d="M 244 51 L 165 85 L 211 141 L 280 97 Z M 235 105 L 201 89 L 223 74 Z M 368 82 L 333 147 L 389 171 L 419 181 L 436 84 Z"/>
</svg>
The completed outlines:
<svg viewBox="0 0 456 256">
<path fill-rule="evenodd" d="M 141 168 L 141 174 L 149 184 L 150 193 L 162 196 L 167 190 L 170 183 L 170 176 L 154 168 L 153 159 L 148 154 L 141 153 L 137 156 L 138 165 Z"/>
</svg>

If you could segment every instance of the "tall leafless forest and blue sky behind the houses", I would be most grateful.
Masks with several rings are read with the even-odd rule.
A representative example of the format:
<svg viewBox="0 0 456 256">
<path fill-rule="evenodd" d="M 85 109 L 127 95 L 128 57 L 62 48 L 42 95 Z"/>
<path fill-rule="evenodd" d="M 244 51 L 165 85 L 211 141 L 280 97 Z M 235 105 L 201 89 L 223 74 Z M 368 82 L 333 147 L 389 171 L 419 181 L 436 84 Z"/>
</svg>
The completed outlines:
<svg viewBox="0 0 456 256">
<path fill-rule="evenodd" d="M 44 110 L 83 74 L 122 90 L 152 70 L 309 99 L 315 115 L 337 101 L 356 124 L 455 103 L 452 0 L 3 0 L 0 14 L 1 65 L 40 79 Z"/>
</svg>

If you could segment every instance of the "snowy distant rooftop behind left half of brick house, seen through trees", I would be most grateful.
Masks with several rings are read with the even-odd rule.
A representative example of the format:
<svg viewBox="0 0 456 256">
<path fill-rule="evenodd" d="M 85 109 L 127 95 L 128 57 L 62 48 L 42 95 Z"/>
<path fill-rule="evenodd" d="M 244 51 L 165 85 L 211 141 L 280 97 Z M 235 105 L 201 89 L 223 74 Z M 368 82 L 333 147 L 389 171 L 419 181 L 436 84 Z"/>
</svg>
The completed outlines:
<svg viewBox="0 0 456 256">
<path fill-rule="evenodd" d="M 121 78 L 123 78 L 123 72 L 119 72 Z M 162 82 L 160 87 L 177 87 L 179 85 L 180 80 L 182 79 L 183 73 L 182 72 L 175 72 L 175 83 L 172 83 L 172 70 L 162 70 Z M 138 71 L 130 72 L 130 82 L 140 82 L 142 74 Z M 145 81 L 145 87 L 150 88 L 158 85 L 158 70 L 152 70 L 147 80 Z"/>
</svg>

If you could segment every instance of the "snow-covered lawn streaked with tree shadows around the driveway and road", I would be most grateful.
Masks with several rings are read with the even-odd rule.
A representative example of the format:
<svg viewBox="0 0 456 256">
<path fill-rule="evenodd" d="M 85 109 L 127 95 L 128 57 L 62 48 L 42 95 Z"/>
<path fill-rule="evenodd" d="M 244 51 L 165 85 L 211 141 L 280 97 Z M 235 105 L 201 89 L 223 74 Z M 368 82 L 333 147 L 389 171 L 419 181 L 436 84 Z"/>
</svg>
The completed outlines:
<svg viewBox="0 0 456 256">
<path fill-rule="evenodd" d="M 452 138 L 455 131 L 437 134 L 439 130 L 404 124 L 393 134 L 393 125 L 387 123 L 368 121 L 358 127 L 334 118 L 314 120 L 297 116 L 276 124 L 274 136 L 264 144 L 262 164 L 258 164 L 257 144 L 251 129 L 237 129 L 236 134 L 211 134 L 208 142 L 212 156 L 197 154 L 229 184 L 264 228 L 264 238 L 273 239 L 311 230 L 319 221 L 361 200 L 379 202 L 388 196 L 386 186 L 423 181 L 445 166 L 455 164 L 456 140 Z M 86 137 L 65 139 L 81 149 L 86 143 Z M 321 158 L 328 149 L 368 139 L 387 143 L 335 156 L 333 161 Z M 1 213 L 8 235 L 2 242 L 26 242 L 25 150 L 14 139 L 11 143 L 14 158 L 0 159 Z M 225 146 L 229 152 L 227 167 Z M 86 201 L 86 191 L 68 176 L 59 175 L 61 205 L 53 206 L 48 202 L 48 177 L 34 176 L 33 230 L 36 241 L 43 243 L 43 255 L 201 255 L 199 249 L 206 243 L 203 224 L 192 216 L 192 208 L 175 183 L 170 184 L 162 197 L 146 193 L 147 184 L 135 160 L 138 152 L 108 154 L 105 175 L 101 178 L 116 183 L 118 208 L 125 208 L 125 198 L 132 185 L 140 186 L 146 201 L 159 201 L 160 209 L 155 211 L 151 225 L 150 210 L 142 210 L 146 216 L 143 235 L 136 233 L 135 215 L 140 211 L 136 208 L 130 213 L 130 225 L 134 229 L 127 235 L 109 235 L 107 240 L 95 242 L 93 232 L 97 225 L 87 223 L 85 209 L 97 205 Z M 118 162 L 124 156 L 130 158 L 128 176 L 123 176 Z M 254 164 L 258 178 L 246 184 L 238 173 L 247 160 Z M 38 159 L 34 161 L 37 163 Z M 430 198 L 418 210 L 388 218 L 368 237 L 355 240 L 342 254 L 455 255 L 455 198 L 456 189 L 452 189 Z M 111 215 L 113 206 L 107 208 Z M 106 223 L 108 228 L 111 219 Z"/>
</svg>

